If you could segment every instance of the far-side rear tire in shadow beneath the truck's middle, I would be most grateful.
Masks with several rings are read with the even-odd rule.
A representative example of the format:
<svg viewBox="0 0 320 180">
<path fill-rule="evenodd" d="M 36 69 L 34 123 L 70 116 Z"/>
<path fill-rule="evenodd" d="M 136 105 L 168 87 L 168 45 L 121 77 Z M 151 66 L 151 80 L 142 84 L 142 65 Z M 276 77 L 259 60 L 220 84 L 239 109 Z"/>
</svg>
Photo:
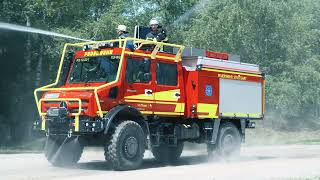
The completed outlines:
<svg viewBox="0 0 320 180">
<path fill-rule="evenodd" d="M 163 164 L 177 163 L 183 151 L 183 142 L 178 142 L 177 146 L 161 144 L 158 147 L 152 147 L 151 152 L 155 159 Z"/>
</svg>

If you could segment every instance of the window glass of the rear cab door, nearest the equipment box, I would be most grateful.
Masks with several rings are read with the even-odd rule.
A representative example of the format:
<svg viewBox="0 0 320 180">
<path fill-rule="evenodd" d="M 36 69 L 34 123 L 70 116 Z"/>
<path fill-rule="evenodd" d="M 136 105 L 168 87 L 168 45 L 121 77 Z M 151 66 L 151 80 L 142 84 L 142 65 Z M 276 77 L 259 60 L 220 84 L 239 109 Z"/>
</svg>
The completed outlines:
<svg viewBox="0 0 320 180">
<path fill-rule="evenodd" d="M 176 86 L 178 84 L 177 65 L 158 62 L 157 84 Z"/>
</svg>

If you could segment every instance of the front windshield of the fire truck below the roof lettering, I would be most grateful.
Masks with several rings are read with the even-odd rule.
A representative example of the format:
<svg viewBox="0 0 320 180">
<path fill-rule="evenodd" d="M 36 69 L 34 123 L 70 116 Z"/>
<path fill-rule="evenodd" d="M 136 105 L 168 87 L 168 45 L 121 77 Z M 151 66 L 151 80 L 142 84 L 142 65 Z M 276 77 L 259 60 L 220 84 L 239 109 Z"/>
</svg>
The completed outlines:
<svg viewBox="0 0 320 180">
<path fill-rule="evenodd" d="M 72 65 L 69 83 L 111 82 L 116 79 L 120 56 L 84 57 Z"/>
</svg>

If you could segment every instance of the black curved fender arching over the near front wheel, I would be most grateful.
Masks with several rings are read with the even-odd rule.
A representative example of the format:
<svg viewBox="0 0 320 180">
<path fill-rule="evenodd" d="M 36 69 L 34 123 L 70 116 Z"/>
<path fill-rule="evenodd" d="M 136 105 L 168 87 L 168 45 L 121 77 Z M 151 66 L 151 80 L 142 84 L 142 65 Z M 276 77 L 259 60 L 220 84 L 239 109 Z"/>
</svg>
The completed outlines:
<svg viewBox="0 0 320 180">
<path fill-rule="evenodd" d="M 149 126 L 146 121 L 144 121 L 144 118 L 141 114 L 141 112 L 136 109 L 135 107 L 129 106 L 129 105 L 119 105 L 114 108 L 112 108 L 106 116 L 103 118 L 105 121 L 105 129 L 104 134 L 107 134 L 109 132 L 110 126 L 113 122 L 119 120 L 116 117 L 117 116 L 125 116 L 125 118 L 122 118 L 122 120 L 133 120 L 137 122 L 143 129 L 146 135 L 149 134 Z M 134 118 L 134 119 L 132 119 Z"/>
</svg>

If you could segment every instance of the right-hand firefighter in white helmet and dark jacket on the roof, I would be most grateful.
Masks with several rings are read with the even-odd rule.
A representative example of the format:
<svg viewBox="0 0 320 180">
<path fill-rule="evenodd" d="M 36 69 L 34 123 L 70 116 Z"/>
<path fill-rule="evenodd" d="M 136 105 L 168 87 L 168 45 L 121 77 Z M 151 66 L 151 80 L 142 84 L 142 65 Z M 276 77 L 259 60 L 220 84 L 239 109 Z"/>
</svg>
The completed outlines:
<svg viewBox="0 0 320 180">
<path fill-rule="evenodd" d="M 156 39 L 158 42 L 168 41 L 166 30 L 160 25 L 156 19 L 150 20 L 150 32 L 146 35 L 146 39 Z"/>
</svg>

